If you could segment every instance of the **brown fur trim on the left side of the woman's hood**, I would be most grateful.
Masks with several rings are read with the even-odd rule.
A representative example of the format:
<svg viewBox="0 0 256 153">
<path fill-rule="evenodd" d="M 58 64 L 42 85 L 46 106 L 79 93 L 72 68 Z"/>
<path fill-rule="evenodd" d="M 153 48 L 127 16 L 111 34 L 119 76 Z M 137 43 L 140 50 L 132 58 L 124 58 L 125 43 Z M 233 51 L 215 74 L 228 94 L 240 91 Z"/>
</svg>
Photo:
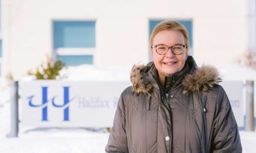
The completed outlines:
<svg viewBox="0 0 256 153">
<path fill-rule="evenodd" d="M 137 94 L 142 92 L 146 95 L 150 95 L 153 85 L 148 78 L 147 73 L 141 72 L 145 68 L 145 65 L 133 65 L 130 72 L 130 81 L 132 83 L 131 91 Z"/>
</svg>

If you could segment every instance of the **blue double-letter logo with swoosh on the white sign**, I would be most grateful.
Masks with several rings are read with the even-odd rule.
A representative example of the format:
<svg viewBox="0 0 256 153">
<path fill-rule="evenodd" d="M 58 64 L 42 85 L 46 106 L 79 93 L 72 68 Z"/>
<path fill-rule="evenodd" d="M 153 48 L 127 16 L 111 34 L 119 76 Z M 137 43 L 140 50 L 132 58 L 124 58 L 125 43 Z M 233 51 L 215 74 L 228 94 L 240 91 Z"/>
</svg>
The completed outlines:
<svg viewBox="0 0 256 153">
<path fill-rule="evenodd" d="M 29 99 L 29 106 L 31 107 L 43 107 L 42 110 L 42 121 L 48 121 L 47 118 L 47 103 L 51 101 L 52 105 L 54 107 L 64 107 L 65 105 L 67 105 L 71 100 L 69 100 L 69 87 L 63 87 L 64 89 L 64 103 L 63 105 L 57 105 L 55 104 L 54 100 L 56 98 L 56 96 L 54 96 L 53 98 L 51 98 L 50 100 L 48 100 L 48 96 L 47 96 L 47 88 L 48 87 L 42 87 L 42 95 L 43 95 L 43 99 L 42 99 L 42 104 L 40 105 L 35 105 L 32 103 L 32 98 L 34 97 L 34 95 L 28 97 Z M 74 98 L 73 98 L 74 99 Z M 64 109 L 64 121 L 69 121 L 69 107 L 66 107 Z"/>
</svg>

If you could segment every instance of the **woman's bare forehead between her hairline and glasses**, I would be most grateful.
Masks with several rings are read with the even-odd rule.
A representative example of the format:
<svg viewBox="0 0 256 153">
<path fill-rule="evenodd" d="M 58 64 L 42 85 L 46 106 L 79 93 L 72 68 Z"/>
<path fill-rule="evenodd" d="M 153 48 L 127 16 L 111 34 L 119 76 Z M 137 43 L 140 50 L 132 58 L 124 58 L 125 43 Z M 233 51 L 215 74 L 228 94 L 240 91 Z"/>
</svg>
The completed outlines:
<svg viewBox="0 0 256 153">
<path fill-rule="evenodd" d="M 184 44 L 185 39 L 183 34 L 180 31 L 174 30 L 165 30 L 158 32 L 154 39 L 153 44 L 166 44 L 166 45 L 173 45 L 176 43 Z"/>
</svg>

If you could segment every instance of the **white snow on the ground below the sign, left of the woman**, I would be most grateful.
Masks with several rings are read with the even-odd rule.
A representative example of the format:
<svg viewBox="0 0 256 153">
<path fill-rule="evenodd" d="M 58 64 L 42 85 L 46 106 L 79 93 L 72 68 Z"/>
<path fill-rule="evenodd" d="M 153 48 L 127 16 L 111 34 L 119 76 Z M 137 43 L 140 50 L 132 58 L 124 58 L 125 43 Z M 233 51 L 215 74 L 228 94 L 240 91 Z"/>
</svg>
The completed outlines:
<svg viewBox="0 0 256 153">
<path fill-rule="evenodd" d="M 86 129 L 34 129 L 0 139 L 0 153 L 104 153 L 108 136 Z"/>
</svg>

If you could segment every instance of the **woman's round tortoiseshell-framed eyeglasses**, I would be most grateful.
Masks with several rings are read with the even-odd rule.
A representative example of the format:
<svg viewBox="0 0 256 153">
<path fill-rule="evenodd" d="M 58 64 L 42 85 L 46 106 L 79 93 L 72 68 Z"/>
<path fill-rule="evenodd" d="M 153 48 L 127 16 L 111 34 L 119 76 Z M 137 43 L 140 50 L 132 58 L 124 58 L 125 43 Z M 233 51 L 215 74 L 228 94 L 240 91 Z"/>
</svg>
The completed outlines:
<svg viewBox="0 0 256 153">
<path fill-rule="evenodd" d="M 174 55 L 180 55 L 184 52 L 184 50 L 187 46 L 183 45 L 183 44 L 176 44 L 176 45 L 173 45 L 173 46 L 169 47 L 167 45 L 160 44 L 160 45 L 151 46 L 151 48 L 153 48 L 153 47 L 156 48 L 156 52 L 159 55 L 165 55 L 168 52 L 169 48 L 171 48 L 171 52 Z"/>
</svg>

